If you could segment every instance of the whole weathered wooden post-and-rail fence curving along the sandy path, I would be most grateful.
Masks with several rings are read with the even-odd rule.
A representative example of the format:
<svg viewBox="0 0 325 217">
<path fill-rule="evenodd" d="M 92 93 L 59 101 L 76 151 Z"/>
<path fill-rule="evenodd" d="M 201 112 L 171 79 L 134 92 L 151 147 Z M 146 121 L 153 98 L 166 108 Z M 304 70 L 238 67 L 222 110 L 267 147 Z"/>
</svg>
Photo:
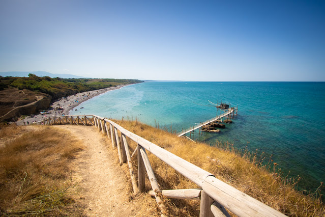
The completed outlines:
<svg viewBox="0 0 325 217">
<path fill-rule="evenodd" d="M 217 179 L 213 174 L 202 170 L 190 162 L 176 156 L 165 149 L 151 143 L 138 135 L 124 129 L 113 121 L 96 115 L 71 115 L 45 119 L 40 124 L 77 124 L 92 125 L 106 132 L 112 141 L 112 148 L 117 147 L 120 164 L 128 163 L 133 193 L 143 192 L 145 189 L 145 171 L 149 177 L 153 191 L 149 194 L 156 197 L 160 207 L 161 215 L 165 216 L 165 207 L 160 195 L 167 198 L 200 200 L 200 216 L 229 216 L 225 208 L 238 216 L 285 216 L 281 212 L 268 205 L 246 195 L 238 189 Z M 120 135 L 119 135 L 120 131 Z M 130 153 L 127 138 L 137 143 L 137 148 Z M 151 167 L 146 151 L 164 161 L 174 170 L 197 184 L 198 189 L 172 189 L 162 190 L 156 180 L 155 173 Z M 137 152 L 138 155 L 138 179 L 134 174 L 131 157 Z"/>
</svg>

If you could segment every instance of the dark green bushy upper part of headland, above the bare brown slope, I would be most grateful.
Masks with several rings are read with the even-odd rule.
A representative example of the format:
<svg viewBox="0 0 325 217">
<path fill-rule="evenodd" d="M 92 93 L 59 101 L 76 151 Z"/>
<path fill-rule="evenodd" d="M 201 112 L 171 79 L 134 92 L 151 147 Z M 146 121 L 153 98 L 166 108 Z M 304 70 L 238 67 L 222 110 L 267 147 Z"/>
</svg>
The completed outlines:
<svg viewBox="0 0 325 217">
<path fill-rule="evenodd" d="M 29 77 L 0 77 L 0 91 L 9 87 L 19 90 L 27 89 L 46 93 L 53 99 L 75 93 L 115 87 L 118 85 L 141 83 L 135 79 L 83 79 L 83 78 L 51 78 L 29 74 Z"/>
</svg>

